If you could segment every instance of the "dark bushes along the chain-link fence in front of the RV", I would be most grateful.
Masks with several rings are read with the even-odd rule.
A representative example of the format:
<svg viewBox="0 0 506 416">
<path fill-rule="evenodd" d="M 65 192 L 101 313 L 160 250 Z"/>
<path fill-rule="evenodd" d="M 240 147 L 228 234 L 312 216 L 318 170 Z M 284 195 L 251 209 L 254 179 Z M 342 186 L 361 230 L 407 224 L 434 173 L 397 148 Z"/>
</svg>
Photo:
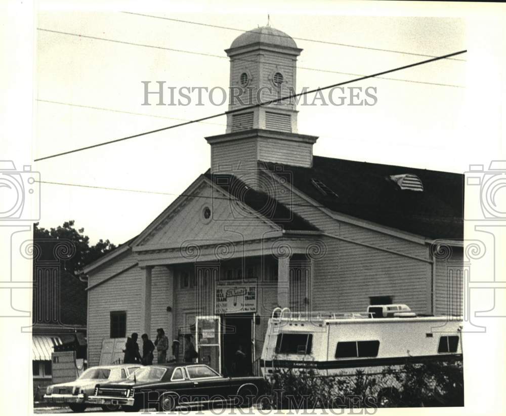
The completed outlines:
<svg viewBox="0 0 506 416">
<path fill-rule="evenodd" d="M 314 369 L 274 369 L 265 391 L 262 406 L 271 409 L 463 406 L 462 363 L 407 362 L 331 376 Z"/>
</svg>

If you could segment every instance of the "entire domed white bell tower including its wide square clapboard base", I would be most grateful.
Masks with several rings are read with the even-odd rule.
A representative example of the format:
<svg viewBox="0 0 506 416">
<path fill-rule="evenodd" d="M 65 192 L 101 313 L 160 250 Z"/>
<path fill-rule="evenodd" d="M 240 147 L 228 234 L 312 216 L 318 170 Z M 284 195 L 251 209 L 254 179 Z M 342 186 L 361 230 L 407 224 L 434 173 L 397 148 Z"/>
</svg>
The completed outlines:
<svg viewBox="0 0 506 416">
<path fill-rule="evenodd" d="M 258 105 L 296 93 L 302 49 L 286 33 L 265 26 L 242 33 L 225 52 L 230 57 L 227 130 L 205 138 L 211 172 L 238 176 L 256 171 L 258 161 L 311 167 L 317 137 L 298 133 L 294 100 Z"/>
</svg>

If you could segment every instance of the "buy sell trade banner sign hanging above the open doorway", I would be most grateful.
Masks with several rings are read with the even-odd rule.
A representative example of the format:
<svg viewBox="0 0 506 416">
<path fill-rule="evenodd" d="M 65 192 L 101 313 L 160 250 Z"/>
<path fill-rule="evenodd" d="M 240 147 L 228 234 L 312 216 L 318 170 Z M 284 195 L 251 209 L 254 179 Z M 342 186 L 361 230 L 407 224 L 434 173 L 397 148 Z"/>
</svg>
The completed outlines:
<svg viewBox="0 0 506 416">
<path fill-rule="evenodd" d="M 217 283 L 215 313 L 257 312 L 257 282 Z"/>
</svg>

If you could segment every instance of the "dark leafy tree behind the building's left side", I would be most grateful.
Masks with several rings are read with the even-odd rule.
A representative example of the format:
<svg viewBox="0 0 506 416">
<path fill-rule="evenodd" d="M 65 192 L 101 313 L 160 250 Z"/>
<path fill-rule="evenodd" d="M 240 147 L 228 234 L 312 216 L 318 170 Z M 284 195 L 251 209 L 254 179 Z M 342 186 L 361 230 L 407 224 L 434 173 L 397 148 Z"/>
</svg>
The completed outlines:
<svg viewBox="0 0 506 416">
<path fill-rule="evenodd" d="M 68 273 L 76 275 L 84 267 L 116 248 L 108 239 L 105 241 L 100 239 L 95 245 L 90 245 L 90 238 L 83 234 L 84 231 L 84 228 L 75 229 L 73 220 L 66 221 L 63 226 L 59 225 L 49 230 L 39 228 L 38 223 L 35 223 L 33 239 L 35 243 L 41 246 L 41 256 L 44 257 L 52 256 L 52 251 L 45 249 L 45 247 L 51 246 L 52 242 L 57 240 L 70 241 L 75 247 L 75 252 L 63 261 L 62 266 Z"/>
</svg>

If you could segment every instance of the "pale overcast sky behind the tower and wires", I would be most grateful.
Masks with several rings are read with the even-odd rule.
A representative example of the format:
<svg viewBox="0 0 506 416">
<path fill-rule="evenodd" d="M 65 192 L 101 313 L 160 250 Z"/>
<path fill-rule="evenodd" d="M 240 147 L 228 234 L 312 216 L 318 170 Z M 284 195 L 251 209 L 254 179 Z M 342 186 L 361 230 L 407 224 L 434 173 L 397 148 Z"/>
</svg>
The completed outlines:
<svg viewBox="0 0 506 416">
<path fill-rule="evenodd" d="M 319 69 L 298 69 L 298 90 L 354 77 L 325 71 L 370 74 L 428 59 L 366 48 L 439 56 L 468 48 L 470 35 L 476 35 L 465 19 L 456 17 L 356 16 L 340 10 L 325 13 L 318 7 L 311 13 L 297 8 L 221 10 L 189 13 L 167 7 L 137 12 L 240 30 L 266 25 L 269 14 L 270 25 L 296 38 L 303 49 L 298 66 Z M 122 12 L 75 10 L 40 10 L 36 26 L 34 158 L 227 109 L 226 104 L 215 106 L 208 100 L 201 106 L 195 102 L 143 106 L 141 81 L 152 81 L 151 85 L 165 81 L 176 88 L 227 88 L 229 61 L 224 50 L 241 33 L 238 30 Z M 479 42 L 479 36 L 473 41 Z M 498 140 L 490 139 L 492 147 L 477 148 L 476 137 L 470 134 L 469 78 L 470 72 L 478 70 L 470 55 L 386 75 L 417 82 L 367 79 L 353 84 L 376 88 L 374 106 L 299 105 L 299 133 L 319 137 L 316 155 L 463 173 L 470 163 L 490 160 Z M 493 115 L 490 111 L 486 116 Z M 225 122 L 222 116 L 37 162 L 34 168 L 41 181 L 168 194 L 42 183 L 40 226 L 75 220 L 92 241 L 108 238 L 116 244 L 137 235 L 208 169 L 210 147 L 204 137 L 225 133 Z"/>
</svg>

